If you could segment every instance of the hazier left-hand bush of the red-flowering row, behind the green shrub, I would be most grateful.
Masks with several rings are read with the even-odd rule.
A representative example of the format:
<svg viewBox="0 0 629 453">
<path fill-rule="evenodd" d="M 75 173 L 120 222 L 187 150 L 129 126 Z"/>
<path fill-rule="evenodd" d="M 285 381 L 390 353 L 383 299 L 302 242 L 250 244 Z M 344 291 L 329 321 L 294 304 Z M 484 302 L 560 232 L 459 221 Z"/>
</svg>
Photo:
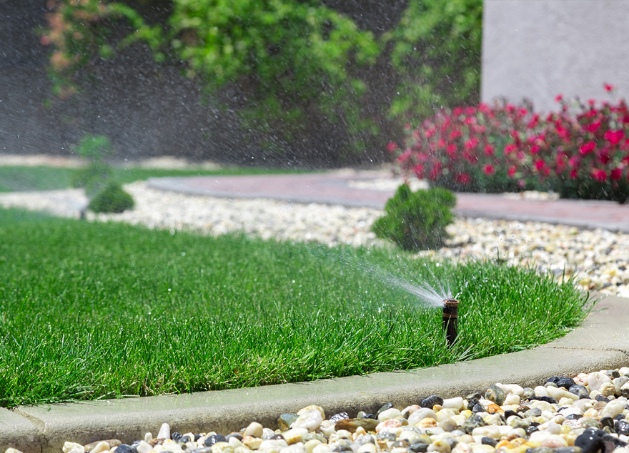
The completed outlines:
<svg viewBox="0 0 629 453">
<path fill-rule="evenodd" d="M 527 185 L 527 156 L 519 151 L 528 125 L 537 118 L 525 106 L 443 109 L 413 130 L 406 126 L 403 149 L 395 143 L 405 173 L 451 190 L 502 192 Z"/>
</svg>

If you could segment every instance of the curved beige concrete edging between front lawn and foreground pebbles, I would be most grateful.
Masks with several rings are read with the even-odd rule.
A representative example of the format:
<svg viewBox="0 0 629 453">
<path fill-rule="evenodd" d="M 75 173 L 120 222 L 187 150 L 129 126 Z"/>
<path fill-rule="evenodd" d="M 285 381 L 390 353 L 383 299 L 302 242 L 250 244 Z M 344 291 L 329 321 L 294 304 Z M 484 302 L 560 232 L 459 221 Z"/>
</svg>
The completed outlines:
<svg viewBox="0 0 629 453">
<path fill-rule="evenodd" d="M 189 395 L 114 399 L 0 409 L 0 452 L 61 452 L 65 441 L 132 442 L 163 422 L 172 431 L 226 433 L 254 420 L 274 426 L 282 412 L 318 404 L 327 414 L 375 411 L 385 402 L 399 407 L 420 397 L 463 396 L 492 383 L 541 385 L 553 375 L 629 365 L 629 300 L 606 297 L 583 325 L 533 350 L 407 372 L 375 373 L 299 384 L 271 385 Z"/>
</svg>

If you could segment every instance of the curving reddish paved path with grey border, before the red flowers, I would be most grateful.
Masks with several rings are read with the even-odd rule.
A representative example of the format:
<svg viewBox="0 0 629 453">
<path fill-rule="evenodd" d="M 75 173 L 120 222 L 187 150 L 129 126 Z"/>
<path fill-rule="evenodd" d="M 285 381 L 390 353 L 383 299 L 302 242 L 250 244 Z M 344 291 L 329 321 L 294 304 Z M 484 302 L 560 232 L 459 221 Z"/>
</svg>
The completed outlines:
<svg viewBox="0 0 629 453">
<path fill-rule="evenodd" d="M 195 176 L 152 178 L 149 186 L 225 198 L 273 198 L 294 203 L 383 208 L 394 192 L 392 188 L 379 190 L 369 185 L 360 186 L 360 183 L 379 179 L 382 178 L 374 173 L 360 172 Z M 455 212 L 464 217 L 547 222 L 629 233 L 629 205 L 610 201 L 531 200 L 517 198 L 517 195 L 458 193 Z"/>
</svg>

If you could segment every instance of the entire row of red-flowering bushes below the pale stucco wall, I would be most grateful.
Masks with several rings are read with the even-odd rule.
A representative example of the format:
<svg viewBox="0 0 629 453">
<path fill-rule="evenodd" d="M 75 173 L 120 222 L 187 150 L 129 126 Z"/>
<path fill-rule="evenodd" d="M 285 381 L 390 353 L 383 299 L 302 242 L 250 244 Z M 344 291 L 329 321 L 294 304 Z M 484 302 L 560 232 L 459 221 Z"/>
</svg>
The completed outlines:
<svg viewBox="0 0 629 453">
<path fill-rule="evenodd" d="M 403 148 L 388 149 L 403 172 L 452 190 L 550 189 L 564 198 L 628 200 L 625 101 L 598 108 L 557 101 L 560 111 L 545 117 L 508 103 L 443 109 L 419 128 L 407 126 Z"/>
</svg>

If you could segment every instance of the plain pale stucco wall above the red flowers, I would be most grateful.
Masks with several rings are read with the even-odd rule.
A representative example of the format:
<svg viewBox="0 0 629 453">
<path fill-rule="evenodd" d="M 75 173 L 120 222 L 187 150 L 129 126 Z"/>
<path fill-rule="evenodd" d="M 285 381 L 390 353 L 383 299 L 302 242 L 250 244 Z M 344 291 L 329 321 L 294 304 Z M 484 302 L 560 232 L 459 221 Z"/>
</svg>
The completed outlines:
<svg viewBox="0 0 629 453">
<path fill-rule="evenodd" d="M 482 101 L 629 98 L 628 0 L 485 0 Z"/>
</svg>

